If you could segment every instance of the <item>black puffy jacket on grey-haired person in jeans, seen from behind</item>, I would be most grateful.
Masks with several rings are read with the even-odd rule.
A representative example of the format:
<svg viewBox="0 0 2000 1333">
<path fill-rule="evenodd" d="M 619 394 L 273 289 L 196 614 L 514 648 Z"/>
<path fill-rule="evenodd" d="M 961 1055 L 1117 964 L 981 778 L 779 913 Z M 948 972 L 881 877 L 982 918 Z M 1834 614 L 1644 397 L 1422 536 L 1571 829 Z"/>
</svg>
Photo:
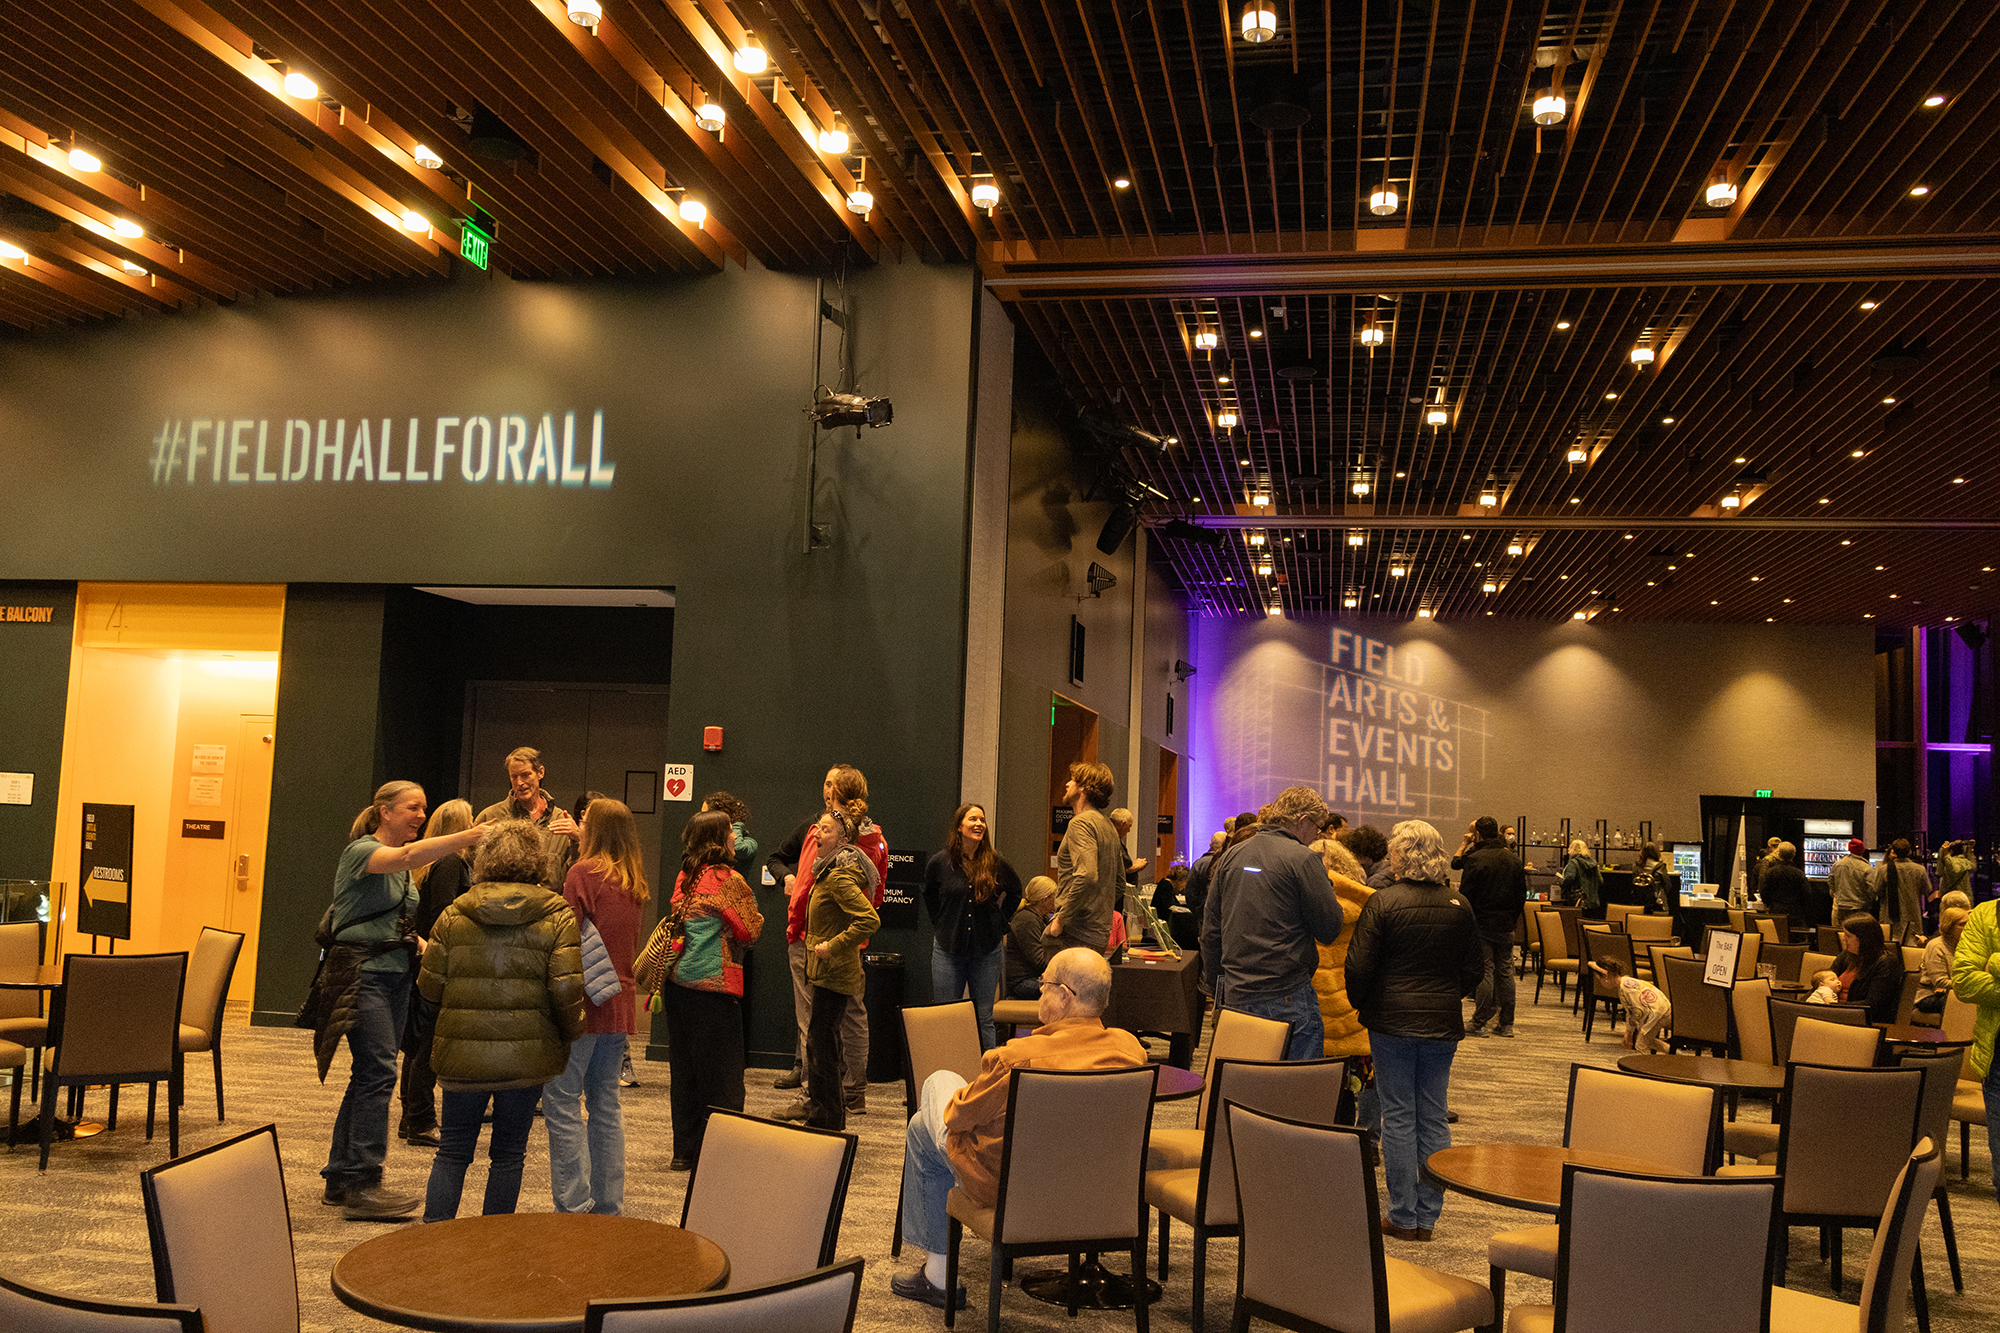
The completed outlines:
<svg viewBox="0 0 2000 1333">
<path fill-rule="evenodd" d="M 1348 945 L 1348 999 L 1388 1037 L 1458 1041 L 1460 1001 L 1480 987 L 1486 951 L 1472 905 L 1450 885 L 1398 881 L 1362 907 Z"/>
</svg>

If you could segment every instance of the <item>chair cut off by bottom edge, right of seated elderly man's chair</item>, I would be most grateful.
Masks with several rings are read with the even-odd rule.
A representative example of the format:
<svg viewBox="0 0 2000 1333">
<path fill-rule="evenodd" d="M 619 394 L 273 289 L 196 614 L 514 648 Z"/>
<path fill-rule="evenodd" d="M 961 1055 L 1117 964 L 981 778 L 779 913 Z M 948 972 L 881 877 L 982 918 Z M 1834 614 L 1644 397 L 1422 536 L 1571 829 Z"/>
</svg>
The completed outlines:
<svg viewBox="0 0 2000 1333">
<path fill-rule="evenodd" d="M 1494 1323 L 1492 1293 L 1464 1277 L 1382 1253 L 1366 1137 L 1228 1107 L 1242 1209 L 1232 1329 L 1452 1333 Z"/>
</svg>

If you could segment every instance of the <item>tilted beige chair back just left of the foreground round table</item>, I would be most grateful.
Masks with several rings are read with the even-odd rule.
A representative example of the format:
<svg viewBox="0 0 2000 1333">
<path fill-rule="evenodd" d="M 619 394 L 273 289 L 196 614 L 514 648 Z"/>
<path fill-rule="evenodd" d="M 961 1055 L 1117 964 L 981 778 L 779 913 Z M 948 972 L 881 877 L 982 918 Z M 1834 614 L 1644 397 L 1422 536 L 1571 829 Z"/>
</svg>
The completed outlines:
<svg viewBox="0 0 2000 1333">
<path fill-rule="evenodd" d="M 278 1127 L 142 1171 L 152 1281 L 202 1309 L 208 1333 L 296 1333 L 298 1269 Z"/>
</svg>

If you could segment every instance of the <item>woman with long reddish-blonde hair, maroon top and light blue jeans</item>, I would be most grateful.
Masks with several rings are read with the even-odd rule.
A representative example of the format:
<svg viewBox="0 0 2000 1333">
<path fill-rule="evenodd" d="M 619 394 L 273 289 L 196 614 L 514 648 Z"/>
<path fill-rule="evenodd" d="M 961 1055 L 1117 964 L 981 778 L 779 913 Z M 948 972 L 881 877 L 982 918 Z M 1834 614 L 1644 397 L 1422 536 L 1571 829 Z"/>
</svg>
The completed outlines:
<svg viewBox="0 0 2000 1333">
<path fill-rule="evenodd" d="M 562 881 L 562 901 L 576 929 L 596 927 L 618 973 L 618 995 L 584 1003 L 584 1035 L 570 1043 L 570 1063 L 542 1093 L 548 1123 L 548 1189 L 558 1213 L 624 1209 L 624 1107 L 618 1069 L 626 1035 L 638 1029 L 632 957 L 650 889 L 638 825 L 624 801 L 598 797 L 584 809 L 578 861 Z M 588 1129 L 582 1107 L 590 1107 Z"/>
</svg>

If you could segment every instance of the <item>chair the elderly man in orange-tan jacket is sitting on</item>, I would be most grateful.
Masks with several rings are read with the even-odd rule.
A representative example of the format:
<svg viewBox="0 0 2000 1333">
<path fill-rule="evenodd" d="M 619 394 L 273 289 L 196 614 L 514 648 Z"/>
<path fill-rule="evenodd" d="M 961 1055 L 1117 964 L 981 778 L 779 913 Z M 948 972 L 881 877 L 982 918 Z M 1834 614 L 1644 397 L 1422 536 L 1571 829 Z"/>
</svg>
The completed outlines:
<svg viewBox="0 0 2000 1333">
<path fill-rule="evenodd" d="M 1160 1071 L 1016 1069 L 1006 1091 L 1000 1189 L 982 1209 L 954 1187 L 944 1197 L 944 1289 L 958 1291 L 966 1229 L 992 1245 L 986 1329 L 1000 1333 L 1000 1283 L 1022 1255 L 1130 1249 L 1132 1281 L 1146 1281 L 1146 1129 Z M 1076 1313 L 1076 1307 L 1070 1307 Z M 944 1303 L 954 1327 L 956 1303 Z M 1146 1333 L 1146 1301 L 1134 1303 Z"/>
</svg>

